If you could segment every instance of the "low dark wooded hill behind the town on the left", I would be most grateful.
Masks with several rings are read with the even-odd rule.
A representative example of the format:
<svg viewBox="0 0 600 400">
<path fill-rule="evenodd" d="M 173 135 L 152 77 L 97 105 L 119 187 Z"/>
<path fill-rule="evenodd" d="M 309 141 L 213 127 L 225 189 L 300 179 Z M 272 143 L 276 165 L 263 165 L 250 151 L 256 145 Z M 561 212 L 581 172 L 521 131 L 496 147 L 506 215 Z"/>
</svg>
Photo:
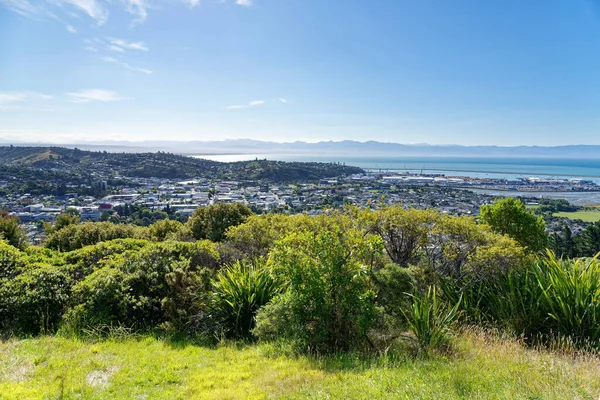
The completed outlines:
<svg viewBox="0 0 600 400">
<path fill-rule="evenodd" d="M 138 178 L 215 178 L 265 180 L 271 182 L 316 181 L 326 177 L 362 172 L 362 169 L 332 163 L 241 161 L 222 163 L 170 153 L 108 153 L 63 147 L 0 147 L 0 165 L 27 171 L 72 172 L 104 179 L 116 176 Z M 1 177 L 0 177 L 1 178 Z"/>
</svg>

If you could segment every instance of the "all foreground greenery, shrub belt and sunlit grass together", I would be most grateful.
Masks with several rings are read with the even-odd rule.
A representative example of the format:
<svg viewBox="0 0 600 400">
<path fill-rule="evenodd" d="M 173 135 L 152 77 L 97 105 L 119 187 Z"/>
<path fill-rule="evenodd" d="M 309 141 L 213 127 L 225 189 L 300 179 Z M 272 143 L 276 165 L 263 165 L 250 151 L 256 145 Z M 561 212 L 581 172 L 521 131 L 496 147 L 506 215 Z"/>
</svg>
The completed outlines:
<svg viewBox="0 0 600 400">
<path fill-rule="evenodd" d="M 600 261 L 547 250 L 519 201 L 481 211 L 64 215 L 44 247 L 3 215 L 0 393 L 593 398 Z"/>
</svg>

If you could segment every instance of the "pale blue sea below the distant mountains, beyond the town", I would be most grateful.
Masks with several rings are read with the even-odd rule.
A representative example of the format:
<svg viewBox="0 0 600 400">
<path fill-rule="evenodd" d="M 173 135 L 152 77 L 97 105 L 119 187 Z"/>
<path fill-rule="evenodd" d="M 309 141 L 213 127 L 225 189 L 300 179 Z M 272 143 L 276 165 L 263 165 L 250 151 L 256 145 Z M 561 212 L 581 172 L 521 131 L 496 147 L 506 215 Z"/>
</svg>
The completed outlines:
<svg viewBox="0 0 600 400">
<path fill-rule="evenodd" d="M 392 157 L 343 154 L 217 154 L 197 155 L 214 161 L 232 162 L 254 159 L 279 161 L 341 162 L 381 171 L 440 173 L 516 179 L 520 177 L 583 178 L 600 184 L 600 158 L 483 158 L 483 157 Z M 600 157 L 600 155 L 599 155 Z"/>
</svg>

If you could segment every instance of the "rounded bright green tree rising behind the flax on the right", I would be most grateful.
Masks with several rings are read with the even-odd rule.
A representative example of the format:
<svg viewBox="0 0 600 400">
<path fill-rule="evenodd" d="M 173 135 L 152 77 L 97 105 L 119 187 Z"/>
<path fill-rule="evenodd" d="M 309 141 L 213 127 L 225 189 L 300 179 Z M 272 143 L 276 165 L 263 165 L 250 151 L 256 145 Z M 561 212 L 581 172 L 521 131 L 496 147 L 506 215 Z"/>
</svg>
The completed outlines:
<svg viewBox="0 0 600 400">
<path fill-rule="evenodd" d="M 520 201 L 508 197 L 480 209 L 482 222 L 498 233 L 508 235 L 532 252 L 543 250 L 548 242 L 543 217 L 536 217 Z"/>
</svg>

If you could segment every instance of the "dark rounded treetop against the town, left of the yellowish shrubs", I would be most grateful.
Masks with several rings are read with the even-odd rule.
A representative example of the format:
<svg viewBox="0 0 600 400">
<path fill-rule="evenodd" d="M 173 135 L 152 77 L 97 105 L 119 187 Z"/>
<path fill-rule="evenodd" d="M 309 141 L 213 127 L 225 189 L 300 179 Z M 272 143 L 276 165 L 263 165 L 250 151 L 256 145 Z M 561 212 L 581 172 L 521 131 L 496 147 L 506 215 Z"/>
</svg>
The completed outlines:
<svg viewBox="0 0 600 400">
<path fill-rule="evenodd" d="M 197 208 L 186 225 L 196 240 L 220 242 L 229 227 L 243 223 L 251 215 L 252 210 L 241 203 L 219 203 Z"/>
</svg>

